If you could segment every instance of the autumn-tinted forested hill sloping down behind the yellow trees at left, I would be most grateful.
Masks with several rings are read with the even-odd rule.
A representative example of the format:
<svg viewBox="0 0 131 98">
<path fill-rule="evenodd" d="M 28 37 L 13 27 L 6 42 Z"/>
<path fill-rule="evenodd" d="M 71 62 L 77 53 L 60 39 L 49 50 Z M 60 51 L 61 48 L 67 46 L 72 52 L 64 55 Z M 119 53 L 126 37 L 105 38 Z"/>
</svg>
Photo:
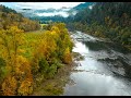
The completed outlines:
<svg viewBox="0 0 131 98">
<path fill-rule="evenodd" d="M 36 30 L 40 27 L 38 22 L 31 21 L 29 19 L 24 17 L 21 13 L 4 5 L 0 5 L 0 29 L 7 29 L 14 25 L 25 32 Z"/>
</svg>

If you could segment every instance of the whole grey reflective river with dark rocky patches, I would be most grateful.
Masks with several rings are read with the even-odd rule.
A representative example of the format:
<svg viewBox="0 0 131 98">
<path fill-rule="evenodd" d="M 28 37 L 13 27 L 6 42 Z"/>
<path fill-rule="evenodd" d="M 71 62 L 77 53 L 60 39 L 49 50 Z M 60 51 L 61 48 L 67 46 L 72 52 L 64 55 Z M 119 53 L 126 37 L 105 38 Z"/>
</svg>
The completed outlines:
<svg viewBox="0 0 131 98">
<path fill-rule="evenodd" d="M 75 61 L 63 96 L 130 96 L 131 52 L 87 34 L 71 33 L 84 60 Z"/>
</svg>

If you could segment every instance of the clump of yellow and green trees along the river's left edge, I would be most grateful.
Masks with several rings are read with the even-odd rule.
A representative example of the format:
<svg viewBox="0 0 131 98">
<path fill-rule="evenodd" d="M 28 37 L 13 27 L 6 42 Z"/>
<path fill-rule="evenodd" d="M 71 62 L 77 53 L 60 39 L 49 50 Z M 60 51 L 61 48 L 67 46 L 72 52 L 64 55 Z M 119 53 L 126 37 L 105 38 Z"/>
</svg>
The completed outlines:
<svg viewBox="0 0 131 98">
<path fill-rule="evenodd" d="M 35 59 L 37 58 L 38 60 L 38 72 L 45 74 L 44 77 L 46 78 L 53 77 L 57 70 L 61 66 L 60 63 L 64 62 L 64 58 L 71 59 L 70 53 L 73 47 L 73 42 L 63 23 L 53 23 L 49 26 L 50 30 L 46 30 L 39 36 L 40 44 L 35 51 Z M 69 49 L 68 56 L 66 56 L 67 48 Z M 69 60 L 69 63 L 70 62 L 72 62 L 72 60 Z"/>
</svg>

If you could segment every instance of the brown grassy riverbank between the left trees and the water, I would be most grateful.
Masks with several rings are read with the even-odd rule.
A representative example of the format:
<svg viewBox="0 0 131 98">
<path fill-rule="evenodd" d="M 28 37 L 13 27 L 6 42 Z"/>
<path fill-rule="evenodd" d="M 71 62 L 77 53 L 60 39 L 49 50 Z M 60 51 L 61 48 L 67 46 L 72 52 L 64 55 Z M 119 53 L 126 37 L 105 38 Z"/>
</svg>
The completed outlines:
<svg viewBox="0 0 131 98">
<path fill-rule="evenodd" d="M 70 82 L 70 73 L 75 65 L 75 62 L 64 64 L 58 70 L 58 73 L 53 78 L 46 79 L 38 87 L 35 87 L 34 93 L 31 96 L 59 96 L 63 94 L 63 87 Z"/>
</svg>

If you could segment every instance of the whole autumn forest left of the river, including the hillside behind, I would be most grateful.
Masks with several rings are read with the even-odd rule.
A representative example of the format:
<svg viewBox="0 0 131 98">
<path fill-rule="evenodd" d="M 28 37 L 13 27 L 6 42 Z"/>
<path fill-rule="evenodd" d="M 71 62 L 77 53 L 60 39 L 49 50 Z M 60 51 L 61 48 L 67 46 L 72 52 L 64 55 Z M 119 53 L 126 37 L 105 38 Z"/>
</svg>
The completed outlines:
<svg viewBox="0 0 131 98">
<path fill-rule="evenodd" d="M 38 22 L 0 7 L 0 95 L 31 95 L 34 84 L 52 78 L 72 62 L 73 42 L 66 24 L 53 23 L 40 33 Z"/>
</svg>

